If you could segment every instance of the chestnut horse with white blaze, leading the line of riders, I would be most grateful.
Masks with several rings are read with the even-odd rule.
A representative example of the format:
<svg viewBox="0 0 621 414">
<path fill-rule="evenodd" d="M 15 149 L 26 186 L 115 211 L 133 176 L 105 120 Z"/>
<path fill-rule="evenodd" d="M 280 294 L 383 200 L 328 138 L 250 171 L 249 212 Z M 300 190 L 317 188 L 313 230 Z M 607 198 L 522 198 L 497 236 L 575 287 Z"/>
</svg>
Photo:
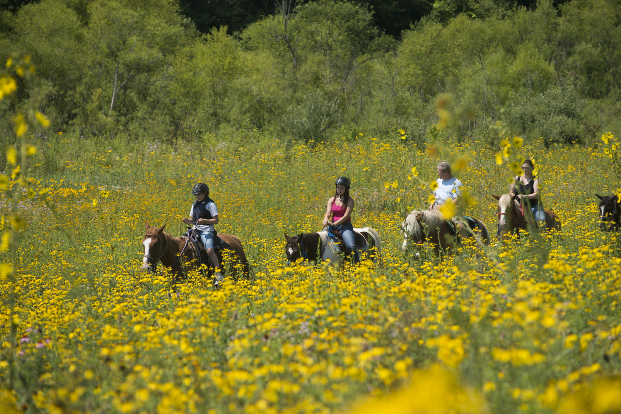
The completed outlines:
<svg viewBox="0 0 621 414">
<path fill-rule="evenodd" d="M 164 227 L 166 225 L 152 227 L 147 223 L 145 237 L 142 241 L 144 248 L 142 269 L 148 272 L 155 271 L 158 261 L 161 261 L 162 266 L 170 268 L 173 274 L 175 274 L 175 278 L 180 280 L 183 277 L 184 263 L 191 262 L 194 266 L 198 266 L 201 263 L 201 257 L 203 262 L 208 260 L 207 254 L 203 251 L 202 256 L 199 256 L 201 252 L 197 251 L 194 243 L 188 242 L 187 237 L 173 237 L 164 232 Z M 230 263 L 229 271 L 233 271 L 235 263 L 242 263 L 243 275 L 248 276 L 248 260 L 245 253 L 243 253 L 242 242 L 237 236 L 225 235 L 223 233 L 218 233 L 218 237 L 224 241 L 227 250 L 233 251 L 233 253 L 230 253 L 233 260 Z M 179 257 L 179 253 L 182 251 L 183 255 Z M 217 254 L 218 260 L 222 263 L 222 252 L 216 251 L 215 254 Z M 211 276 L 211 271 L 209 276 Z"/>
</svg>

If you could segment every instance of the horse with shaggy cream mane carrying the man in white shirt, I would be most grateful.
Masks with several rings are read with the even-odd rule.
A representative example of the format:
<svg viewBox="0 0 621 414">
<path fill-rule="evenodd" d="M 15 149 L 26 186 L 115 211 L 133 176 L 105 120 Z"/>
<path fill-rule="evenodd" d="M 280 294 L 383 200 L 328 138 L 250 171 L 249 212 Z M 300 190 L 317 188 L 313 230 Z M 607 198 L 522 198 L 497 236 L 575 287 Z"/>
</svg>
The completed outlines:
<svg viewBox="0 0 621 414">
<path fill-rule="evenodd" d="M 468 227 L 470 232 L 468 237 L 478 235 L 485 245 L 489 246 L 490 237 L 486 225 L 478 218 L 460 217 L 458 223 Z M 401 250 L 406 251 L 410 241 L 414 241 L 418 245 L 420 251 L 422 243 L 428 241 L 435 246 L 436 254 L 440 253 L 440 249 L 452 251 L 451 248 L 455 243 L 459 242 L 459 230 L 453 222 L 446 220 L 440 210 L 412 210 L 407 215 L 406 220 L 401 223 L 403 229 L 403 245 Z"/>
</svg>

